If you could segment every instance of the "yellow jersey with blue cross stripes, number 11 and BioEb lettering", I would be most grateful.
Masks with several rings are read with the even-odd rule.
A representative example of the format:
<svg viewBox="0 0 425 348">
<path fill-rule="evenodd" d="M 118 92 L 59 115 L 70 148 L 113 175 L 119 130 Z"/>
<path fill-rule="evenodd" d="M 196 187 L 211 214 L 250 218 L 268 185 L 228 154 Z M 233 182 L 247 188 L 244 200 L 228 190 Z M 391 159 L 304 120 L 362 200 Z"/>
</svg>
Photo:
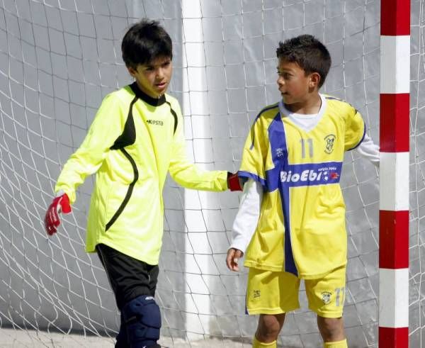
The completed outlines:
<svg viewBox="0 0 425 348">
<path fill-rule="evenodd" d="M 254 121 L 239 176 L 259 181 L 264 193 L 245 266 L 315 279 L 346 264 L 339 179 L 344 152 L 361 143 L 365 125 L 350 104 L 321 98 L 314 127 L 300 126 L 282 101 Z"/>
</svg>

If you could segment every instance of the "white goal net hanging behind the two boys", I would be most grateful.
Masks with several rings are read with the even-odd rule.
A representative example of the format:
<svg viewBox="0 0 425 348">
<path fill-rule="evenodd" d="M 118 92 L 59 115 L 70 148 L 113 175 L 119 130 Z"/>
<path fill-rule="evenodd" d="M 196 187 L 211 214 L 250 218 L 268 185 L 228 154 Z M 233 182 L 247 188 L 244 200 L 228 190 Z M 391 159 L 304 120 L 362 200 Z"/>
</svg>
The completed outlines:
<svg viewBox="0 0 425 348">
<path fill-rule="evenodd" d="M 424 0 L 412 0 L 409 340 L 425 347 Z M 379 143 L 378 0 L 1 0 L 0 342 L 18 347 L 113 345 L 120 316 L 96 254 L 84 252 L 94 178 L 47 238 L 42 219 L 60 169 L 81 144 L 103 96 L 131 82 L 120 53 L 127 28 L 157 19 L 174 43 L 169 94 L 179 99 L 188 153 L 201 167 L 236 171 L 249 127 L 278 101 L 276 47 L 310 33 L 332 67 L 322 91 L 353 104 Z M 392 72 L 387 72 L 391 74 Z M 378 172 L 346 154 L 350 347 L 378 344 Z M 167 179 L 157 302 L 170 347 L 249 347 L 246 269 L 225 255 L 237 193 L 181 189 Z M 141 207 L 149 208 L 149 207 Z M 315 315 L 287 315 L 278 344 L 319 347 Z M 20 346 L 21 344 L 21 346 Z"/>
</svg>

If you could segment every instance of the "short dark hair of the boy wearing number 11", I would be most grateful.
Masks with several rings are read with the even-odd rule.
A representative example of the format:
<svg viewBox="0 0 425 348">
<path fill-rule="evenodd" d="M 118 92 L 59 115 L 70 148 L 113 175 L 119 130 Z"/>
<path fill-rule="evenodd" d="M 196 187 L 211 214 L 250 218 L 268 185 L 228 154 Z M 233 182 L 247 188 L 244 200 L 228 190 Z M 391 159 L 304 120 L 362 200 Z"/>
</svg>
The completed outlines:
<svg viewBox="0 0 425 348">
<path fill-rule="evenodd" d="M 300 35 L 280 42 L 276 55 L 280 60 L 297 63 L 305 74 L 317 72 L 320 75 L 319 88 L 324 84 L 331 67 L 331 55 L 327 47 L 313 35 Z"/>
</svg>

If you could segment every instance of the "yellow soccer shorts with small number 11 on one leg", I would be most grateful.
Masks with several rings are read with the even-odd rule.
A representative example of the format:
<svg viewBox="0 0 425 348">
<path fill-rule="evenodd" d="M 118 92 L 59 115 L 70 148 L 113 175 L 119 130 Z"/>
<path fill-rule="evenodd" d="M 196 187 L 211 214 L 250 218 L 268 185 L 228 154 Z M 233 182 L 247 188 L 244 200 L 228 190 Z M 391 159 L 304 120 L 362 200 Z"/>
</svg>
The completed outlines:
<svg viewBox="0 0 425 348">
<path fill-rule="evenodd" d="M 308 307 L 323 318 L 340 318 L 345 300 L 346 266 L 320 279 L 305 279 Z M 280 314 L 300 308 L 300 279 L 287 272 L 249 269 L 246 288 L 248 314 Z"/>
</svg>

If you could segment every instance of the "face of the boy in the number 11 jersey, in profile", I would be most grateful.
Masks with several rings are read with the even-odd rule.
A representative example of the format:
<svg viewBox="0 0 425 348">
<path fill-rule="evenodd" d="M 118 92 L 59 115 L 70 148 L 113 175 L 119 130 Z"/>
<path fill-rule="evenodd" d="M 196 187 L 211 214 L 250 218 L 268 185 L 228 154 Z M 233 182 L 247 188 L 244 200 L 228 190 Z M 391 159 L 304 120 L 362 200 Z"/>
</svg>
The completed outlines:
<svg viewBox="0 0 425 348">
<path fill-rule="evenodd" d="M 308 103 L 317 94 L 319 81 L 317 72 L 307 75 L 297 63 L 279 59 L 277 83 L 286 105 Z"/>
</svg>

